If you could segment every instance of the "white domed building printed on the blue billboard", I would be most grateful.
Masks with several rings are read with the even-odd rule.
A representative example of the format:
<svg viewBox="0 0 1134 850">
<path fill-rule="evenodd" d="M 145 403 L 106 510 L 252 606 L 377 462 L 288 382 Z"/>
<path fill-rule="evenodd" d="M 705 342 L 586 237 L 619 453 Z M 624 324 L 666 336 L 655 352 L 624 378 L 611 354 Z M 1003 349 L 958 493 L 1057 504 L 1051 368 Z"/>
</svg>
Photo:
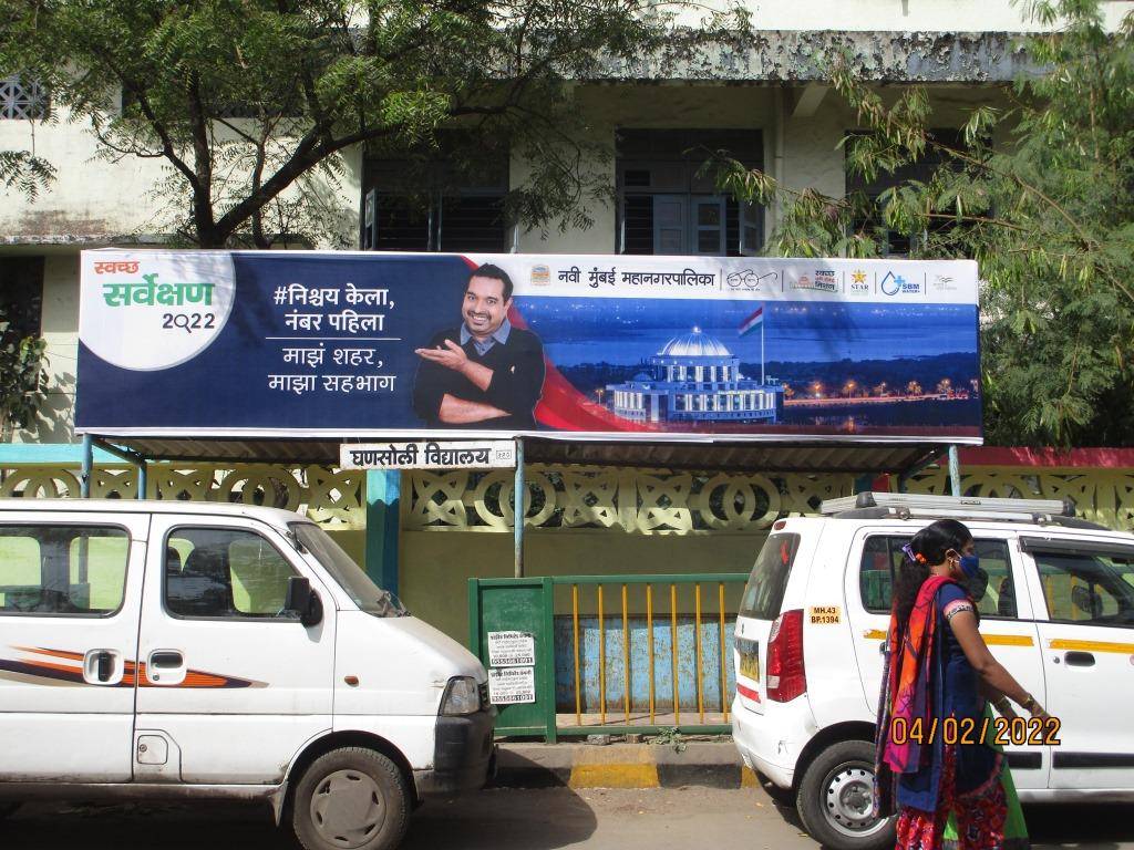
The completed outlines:
<svg viewBox="0 0 1134 850">
<path fill-rule="evenodd" d="M 674 337 L 629 381 L 607 385 L 607 403 L 632 422 L 765 423 L 784 409 L 775 379 L 741 374 L 741 358 L 700 328 Z"/>
</svg>

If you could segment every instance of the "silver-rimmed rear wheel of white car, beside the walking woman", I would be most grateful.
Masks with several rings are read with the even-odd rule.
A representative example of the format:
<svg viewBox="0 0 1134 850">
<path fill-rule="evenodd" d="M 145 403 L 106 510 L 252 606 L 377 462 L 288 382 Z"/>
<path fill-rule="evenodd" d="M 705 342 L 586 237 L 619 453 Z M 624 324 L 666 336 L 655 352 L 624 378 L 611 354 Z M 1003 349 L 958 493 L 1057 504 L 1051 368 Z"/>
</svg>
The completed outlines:
<svg viewBox="0 0 1134 850">
<path fill-rule="evenodd" d="M 894 847 L 894 818 L 872 817 L 874 745 L 833 743 L 807 766 L 795 805 L 811 838 L 832 850 Z"/>
</svg>

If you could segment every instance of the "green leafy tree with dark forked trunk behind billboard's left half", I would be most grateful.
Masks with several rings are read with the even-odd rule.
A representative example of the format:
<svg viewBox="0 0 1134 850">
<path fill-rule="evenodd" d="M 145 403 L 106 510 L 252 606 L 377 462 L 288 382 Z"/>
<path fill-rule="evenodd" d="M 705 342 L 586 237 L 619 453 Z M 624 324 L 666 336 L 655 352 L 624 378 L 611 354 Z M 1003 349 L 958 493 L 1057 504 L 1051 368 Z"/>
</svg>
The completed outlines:
<svg viewBox="0 0 1134 850">
<path fill-rule="evenodd" d="M 406 187 L 421 192 L 455 130 L 466 154 L 445 151 L 454 178 L 476 172 L 475 152 L 526 155 L 509 213 L 568 227 L 585 224 L 584 202 L 608 189 L 583 168 L 602 148 L 573 107 L 573 80 L 746 29 L 741 11 L 683 29 L 686 5 L 0 0 L 0 73 L 46 83 L 107 158 L 163 159 L 164 218 L 188 244 L 341 233 L 341 211 L 307 201 L 316 186 L 333 195 L 345 151 L 408 161 Z"/>
</svg>

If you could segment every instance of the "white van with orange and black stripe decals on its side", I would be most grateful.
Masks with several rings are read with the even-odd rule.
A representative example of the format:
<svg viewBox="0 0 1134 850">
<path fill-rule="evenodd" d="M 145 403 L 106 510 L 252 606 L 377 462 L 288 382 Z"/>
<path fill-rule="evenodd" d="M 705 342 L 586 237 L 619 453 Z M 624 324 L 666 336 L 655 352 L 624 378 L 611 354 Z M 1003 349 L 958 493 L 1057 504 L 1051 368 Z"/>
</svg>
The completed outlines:
<svg viewBox="0 0 1134 850">
<path fill-rule="evenodd" d="M 307 850 L 391 848 L 484 784 L 486 681 L 295 513 L 0 500 L 0 808 L 263 799 Z"/>
</svg>

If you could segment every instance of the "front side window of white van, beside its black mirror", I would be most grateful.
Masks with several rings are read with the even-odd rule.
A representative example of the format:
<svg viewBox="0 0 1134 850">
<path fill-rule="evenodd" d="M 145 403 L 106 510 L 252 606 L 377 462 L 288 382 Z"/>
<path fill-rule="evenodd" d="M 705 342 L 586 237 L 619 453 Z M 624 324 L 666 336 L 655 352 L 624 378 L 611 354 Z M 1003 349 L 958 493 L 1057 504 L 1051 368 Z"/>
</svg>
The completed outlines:
<svg viewBox="0 0 1134 850">
<path fill-rule="evenodd" d="M 176 617 L 281 615 L 296 572 L 266 539 L 234 528 L 175 528 L 166 543 L 166 607 Z"/>
</svg>

